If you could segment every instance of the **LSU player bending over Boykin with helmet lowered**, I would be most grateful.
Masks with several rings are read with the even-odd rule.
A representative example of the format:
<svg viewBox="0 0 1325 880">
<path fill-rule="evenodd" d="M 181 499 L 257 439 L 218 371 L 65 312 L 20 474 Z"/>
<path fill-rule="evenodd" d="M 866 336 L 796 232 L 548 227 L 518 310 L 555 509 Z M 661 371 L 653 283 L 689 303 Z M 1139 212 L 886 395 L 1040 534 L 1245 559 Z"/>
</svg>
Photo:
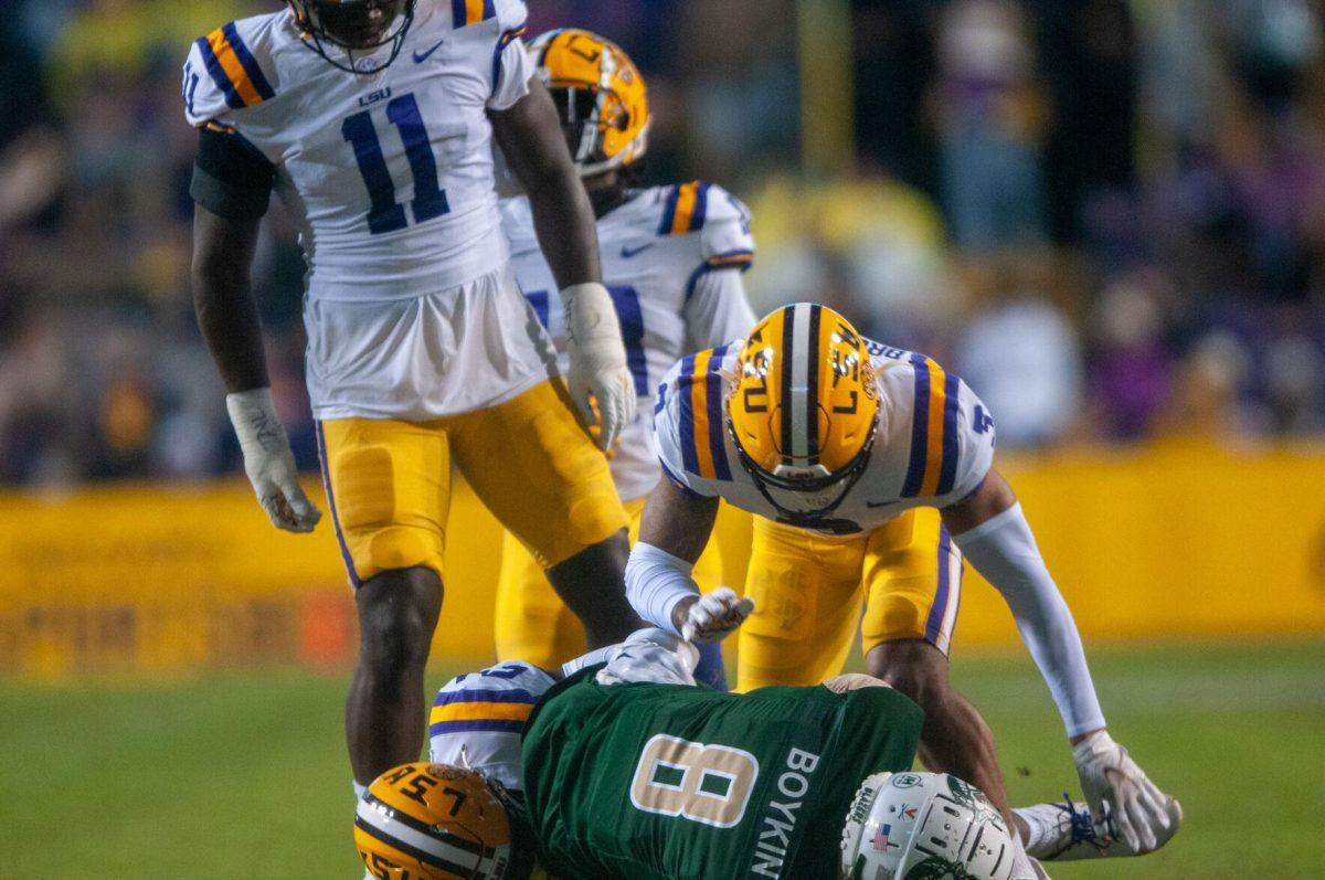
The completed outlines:
<svg viewBox="0 0 1325 880">
<path fill-rule="evenodd" d="M 738 688 L 836 675 L 859 624 L 868 672 L 925 710 L 925 763 L 1007 812 L 992 734 L 947 680 L 965 557 L 1012 610 L 1092 815 L 1110 816 L 1130 852 L 1177 830 L 1178 803 L 1105 729 L 1076 624 L 994 468 L 994 417 L 966 383 L 802 302 L 682 359 L 662 380 L 655 428 L 669 478 L 649 496 L 625 575 L 645 620 L 685 626 L 697 602 L 690 565 L 718 500 L 750 510 L 755 610 L 741 627 Z M 921 513 L 937 520 L 937 541 L 917 541 Z M 733 614 L 710 630 L 739 623 Z"/>
</svg>

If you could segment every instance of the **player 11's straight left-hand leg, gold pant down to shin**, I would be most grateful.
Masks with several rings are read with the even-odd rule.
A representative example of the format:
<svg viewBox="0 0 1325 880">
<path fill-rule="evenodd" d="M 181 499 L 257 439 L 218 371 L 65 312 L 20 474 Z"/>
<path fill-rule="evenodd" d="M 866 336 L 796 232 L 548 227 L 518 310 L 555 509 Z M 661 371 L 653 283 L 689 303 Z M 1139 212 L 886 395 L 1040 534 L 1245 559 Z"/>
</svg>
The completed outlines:
<svg viewBox="0 0 1325 880">
<path fill-rule="evenodd" d="M 319 423 L 318 441 L 355 586 L 359 657 L 344 728 L 354 778 L 367 785 L 423 749 L 423 675 L 441 610 L 450 464 L 436 425 L 338 419 Z"/>
</svg>

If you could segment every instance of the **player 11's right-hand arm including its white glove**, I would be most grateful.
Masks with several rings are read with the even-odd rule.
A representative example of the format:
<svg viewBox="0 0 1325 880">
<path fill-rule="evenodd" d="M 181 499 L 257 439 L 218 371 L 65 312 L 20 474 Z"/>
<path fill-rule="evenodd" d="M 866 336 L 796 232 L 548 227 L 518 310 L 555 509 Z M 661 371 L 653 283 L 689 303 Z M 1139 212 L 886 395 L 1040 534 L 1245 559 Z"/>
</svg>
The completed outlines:
<svg viewBox="0 0 1325 880">
<path fill-rule="evenodd" d="M 556 109 L 537 77 L 529 93 L 504 110 L 490 109 L 493 135 L 529 196 L 534 229 L 566 309 L 567 375 L 586 424 L 603 420 L 599 445 L 611 448 L 635 417 L 635 387 L 612 298 L 603 286 L 594 208 L 562 137 Z"/>
</svg>

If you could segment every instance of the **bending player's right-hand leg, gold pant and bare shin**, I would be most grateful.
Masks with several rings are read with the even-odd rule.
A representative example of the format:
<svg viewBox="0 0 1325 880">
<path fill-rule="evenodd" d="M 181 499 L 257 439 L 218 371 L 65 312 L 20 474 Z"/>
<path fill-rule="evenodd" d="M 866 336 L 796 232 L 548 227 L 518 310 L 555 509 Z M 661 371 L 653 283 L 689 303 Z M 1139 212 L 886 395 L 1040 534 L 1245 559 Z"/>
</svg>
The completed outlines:
<svg viewBox="0 0 1325 880">
<path fill-rule="evenodd" d="M 921 508 L 876 529 L 865 579 L 865 667 L 925 710 L 921 761 L 930 770 L 966 779 L 1010 815 L 994 734 L 949 683 L 947 648 L 961 603 L 962 558 L 938 512 Z"/>
</svg>

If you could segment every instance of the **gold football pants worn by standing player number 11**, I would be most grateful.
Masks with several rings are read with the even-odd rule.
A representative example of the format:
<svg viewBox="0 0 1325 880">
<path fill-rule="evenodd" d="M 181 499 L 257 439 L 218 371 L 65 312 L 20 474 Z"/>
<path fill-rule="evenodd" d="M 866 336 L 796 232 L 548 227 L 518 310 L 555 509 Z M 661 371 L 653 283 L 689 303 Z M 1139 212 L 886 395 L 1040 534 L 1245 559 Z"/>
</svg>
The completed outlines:
<svg viewBox="0 0 1325 880">
<path fill-rule="evenodd" d="M 318 444 L 354 586 L 392 569 L 441 575 L 452 460 L 539 565 L 564 562 L 627 525 L 607 459 L 559 383 L 432 421 L 321 421 Z"/>
</svg>

